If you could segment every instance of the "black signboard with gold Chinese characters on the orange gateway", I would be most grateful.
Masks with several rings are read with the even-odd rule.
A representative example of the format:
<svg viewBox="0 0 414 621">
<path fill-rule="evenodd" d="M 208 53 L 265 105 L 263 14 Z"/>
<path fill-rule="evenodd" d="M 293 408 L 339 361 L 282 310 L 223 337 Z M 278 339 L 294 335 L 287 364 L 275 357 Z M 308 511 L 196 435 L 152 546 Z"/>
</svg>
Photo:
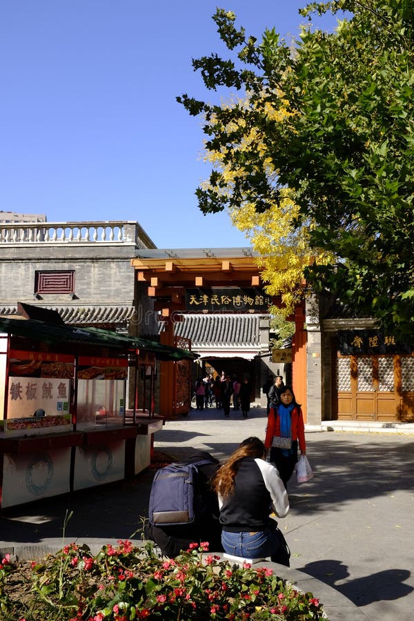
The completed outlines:
<svg viewBox="0 0 414 621">
<path fill-rule="evenodd" d="M 186 289 L 186 311 L 193 313 L 266 313 L 271 304 L 272 298 L 259 288 Z"/>
</svg>

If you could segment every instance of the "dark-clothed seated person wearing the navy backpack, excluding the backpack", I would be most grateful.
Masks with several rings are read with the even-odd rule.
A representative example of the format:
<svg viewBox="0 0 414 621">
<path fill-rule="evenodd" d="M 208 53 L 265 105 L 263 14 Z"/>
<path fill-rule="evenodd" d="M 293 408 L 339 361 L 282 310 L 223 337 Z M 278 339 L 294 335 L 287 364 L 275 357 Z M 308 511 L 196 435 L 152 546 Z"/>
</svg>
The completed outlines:
<svg viewBox="0 0 414 621">
<path fill-rule="evenodd" d="M 221 552 L 221 526 L 219 523 L 219 504 L 217 495 L 210 487 L 219 467 L 219 462 L 207 453 L 197 451 L 187 460 L 189 464 L 195 464 L 201 460 L 208 460 L 208 464 L 198 466 L 199 482 L 201 489 L 202 504 L 199 515 L 191 524 L 172 524 L 161 526 L 150 524 L 145 528 L 147 539 L 154 541 L 161 552 L 169 558 L 175 558 L 181 550 L 188 550 L 190 543 L 208 541 L 210 552 Z"/>
</svg>

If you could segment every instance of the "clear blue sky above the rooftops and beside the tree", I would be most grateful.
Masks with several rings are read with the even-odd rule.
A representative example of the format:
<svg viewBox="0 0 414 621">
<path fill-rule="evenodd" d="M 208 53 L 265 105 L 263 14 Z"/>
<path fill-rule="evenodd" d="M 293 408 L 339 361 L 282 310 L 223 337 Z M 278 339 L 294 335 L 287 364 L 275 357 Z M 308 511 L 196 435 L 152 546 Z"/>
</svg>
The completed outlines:
<svg viewBox="0 0 414 621">
<path fill-rule="evenodd" d="M 224 53 L 216 6 L 248 34 L 290 37 L 304 4 L 1 0 L 0 210 L 137 220 L 159 248 L 247 245 L 226 214 L 198 210 L 201 121 L 175 97 L 210 98 L 191 59 Z"/>
</svg>

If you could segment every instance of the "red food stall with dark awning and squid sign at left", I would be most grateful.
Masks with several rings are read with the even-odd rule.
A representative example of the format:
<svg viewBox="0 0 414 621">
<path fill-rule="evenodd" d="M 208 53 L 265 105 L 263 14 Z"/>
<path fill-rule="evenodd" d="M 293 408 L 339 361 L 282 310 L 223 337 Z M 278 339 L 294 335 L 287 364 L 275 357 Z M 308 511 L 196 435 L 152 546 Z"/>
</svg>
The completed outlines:
<svg viewBox="0 0 414 621">
<path fill-rule="evenodd" d="M 195 355 L 67 326 L 55 311 L 28 304 L 19 304 L 19 312 L 0 317 L 1 507 L 144 470 L 163 424 L 153 408 L 155 361 Z M 147 395 L 137 389 L 143 369 Z M 135 382 L 132 412 L 127 380 Z"/>
</svg>

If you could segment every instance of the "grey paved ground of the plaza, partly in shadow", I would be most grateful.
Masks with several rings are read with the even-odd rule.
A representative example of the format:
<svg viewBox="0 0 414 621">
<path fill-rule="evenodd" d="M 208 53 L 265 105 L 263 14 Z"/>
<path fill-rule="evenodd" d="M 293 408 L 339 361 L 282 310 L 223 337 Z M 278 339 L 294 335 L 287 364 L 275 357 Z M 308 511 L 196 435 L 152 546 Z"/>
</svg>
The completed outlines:
<svg viewBox="0 0 414 621">
<path fill-rule="evenodd" d="M 224 460 L 249 435 L 263 438 L 265 426 L 263 409 L 247 420 L 233 411 L 226 419 L 215 408 L 192 411 L 166 422 L 155 434 L 155 451 L 179 460 L 204 449 Z M 362 618 L 411 621 L 414 435 L 326 431 L 308 432 L 306 441 L 315 476 L 305 484 L 290 480 L 290 512 L 279 520 L 292 568 L 333 586 Z M 0 549 L 61 538 L 66 511 L 74 512 L 66 541 L 139 538 L 153 473 L 5 509 Z"/>
</svg>

